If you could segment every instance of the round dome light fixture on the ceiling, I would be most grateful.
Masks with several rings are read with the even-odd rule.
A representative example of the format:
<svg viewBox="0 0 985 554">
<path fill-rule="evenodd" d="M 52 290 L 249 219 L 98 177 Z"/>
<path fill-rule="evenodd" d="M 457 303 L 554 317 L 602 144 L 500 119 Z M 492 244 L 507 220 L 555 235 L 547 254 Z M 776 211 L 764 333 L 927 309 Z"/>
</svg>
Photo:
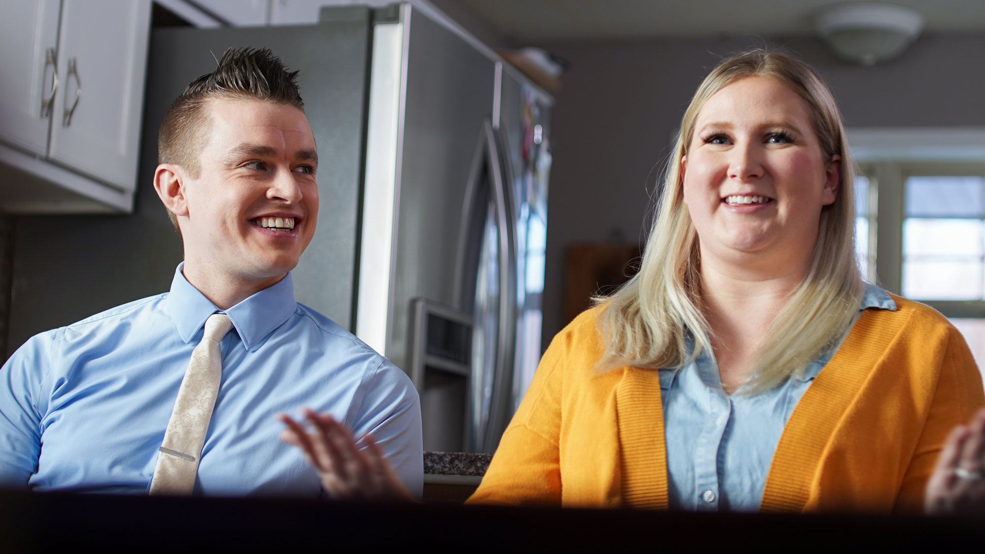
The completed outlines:
<svg viewBox="0 0 985 554">
<path fill-rule="evenodd" d="M 923 31 L 924 21 L 910 8 L 853 2 L 821 10 L 815 24 L 818 34 L 838 57 L 871 66 L 903 53 Z"/>
</svg>

